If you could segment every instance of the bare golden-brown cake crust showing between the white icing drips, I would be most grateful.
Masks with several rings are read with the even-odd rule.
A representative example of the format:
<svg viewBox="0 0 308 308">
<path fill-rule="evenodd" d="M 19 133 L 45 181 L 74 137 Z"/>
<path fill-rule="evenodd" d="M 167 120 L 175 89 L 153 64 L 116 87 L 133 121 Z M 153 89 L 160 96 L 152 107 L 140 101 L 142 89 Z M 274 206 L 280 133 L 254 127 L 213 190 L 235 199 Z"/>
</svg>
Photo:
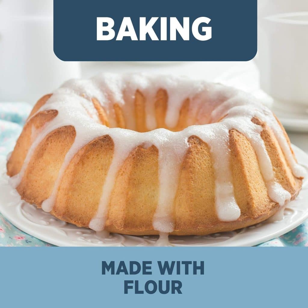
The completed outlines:
<svg viewBox="0 0 308 308">
<path fill-rule="evenodd" d="M 58 114 L 57 110 L 39 111 L 51 95 L 45 95 L 34 106 L 29 120 L 18 138 L 7 162 L 7 174 L 21 171 L 31 144 L 45 124 Z M 156 94 L 156 122 L 166 127 L 164 116 L 168 95 L 160 89 Z M 99 120 L 109 125 L 107 114 L 97 99 L 92 99 Z M 144 96 L 136 92 L 136 129 L 146 131 Z M 123 110 L 114 104 L 117 125 L 125 128 Z M 184 100 L 175 130 L 189 122 L 189 99 Z M 292 174 L 274 133 L 257 117 L 254 124 L 262 127 L 261 137 L 269 154 L 275 179 L 294 199 L 302 179 Z M 281 124 L 280 124 L 281 125 Z M 283 129 L 283 128 L 282 128 Z M 285 138 L 290 141 L 283 130 Z M 35 149 L 17 191 L 21 198 L 41 207 L 50 197 L 65 156 L 74 143 L 76 131 L 67 125 L 50 132 Z M 80 227 L 89 227 L 97 212 L 102 187 L 114 157 L 115 146 L 109 135 L 98 137 L 75 154 L 63 173 L 51 214 Z M 178 188 L 173 202 L 174 235 L 205 235 L 231 231 L 264 221 L 280 206 L 267 193 L 256 153 L 249 140 L 235 129 L 229 131 L 231 171 L 237 205 L 241 215 L 236 221 L 220 221 L 215 209 L 215 172 L 209 145 L 197 136 L 188 138 L 188 149 L 180 167 Z M 293 153 L 293 152 L 292 152 Z M 158 149 L 152 145 L 137 146 L 130 152 L 116 176 L 107 209 L 105 229 L 110 232 L 149 235 L 159 234 L 153 228 L 159 198 Z"/>
</svg>

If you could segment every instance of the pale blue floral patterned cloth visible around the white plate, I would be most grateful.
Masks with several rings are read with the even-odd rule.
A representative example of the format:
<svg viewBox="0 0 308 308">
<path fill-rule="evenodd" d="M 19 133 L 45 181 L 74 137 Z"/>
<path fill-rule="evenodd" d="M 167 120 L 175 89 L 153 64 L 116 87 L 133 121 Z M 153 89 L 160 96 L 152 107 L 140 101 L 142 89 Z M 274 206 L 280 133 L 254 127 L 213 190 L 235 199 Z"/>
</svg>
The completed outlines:
<svg viewBox="0 0 308 308">
<path fill-rule="evenodd" d="M 12 151 L 30 111 L 31 106 L 26 103 L 0 103 L 0 155 L 6 156 Z M 0 246 L 53 245 L 22 232 L 0 213 Z M 308 220 L 281 237 L 258 246 L 308 246 Z"/>
</svg>

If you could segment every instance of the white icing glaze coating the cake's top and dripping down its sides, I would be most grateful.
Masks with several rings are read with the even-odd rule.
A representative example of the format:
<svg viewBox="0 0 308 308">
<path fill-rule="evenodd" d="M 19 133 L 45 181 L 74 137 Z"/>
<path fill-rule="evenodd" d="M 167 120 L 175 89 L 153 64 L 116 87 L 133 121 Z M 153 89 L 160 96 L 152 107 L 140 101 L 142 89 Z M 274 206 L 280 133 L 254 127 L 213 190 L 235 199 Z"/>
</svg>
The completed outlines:
<svg viewBox="0 0 308 308">
<path fill-rule="evenodd" d="M 155 129 L 155 97 L 159 89 L 166 90 L 168 94 L 165 117 L 167 127 L 170 129 L 176 127 L 181 107 L 186 99 L 190 100 L 188 120 L 190 126 L 180 132 L 172 132 L 164 128 Z M 134 102 L 137 90 L 145 98 L 146 126 L 149 131 L 144 133 L 134 131 L 136 129 Z M 110 128 L 100 124 L 97 111 L 91 102 L 92 98 L 96 98 L 103 106 Z M 116 127 L 115 103 L 122 108 L 126 129 Z M 12 177 L 11 182 L 15 187 L 18 186 L 34 149 L 50 132 L 72 125 L 76 131 L 75 141 L 65 156 L 51 196 L 42 204 L 43 210 L 50 212 L 56 202 L 63 172 L 71 159 L 93 139 L 109 135 L 114 143 L 114 154 L 102 187 L 97 213 L 89 224 L 89 227 L 95 231 L 104 229 L 116 176 L 124 161 L 137 146 L 147 148 L 154 145 L 158 149 L 160 188 L 158 205 L 153 217 L 153 228 L 162 234 L 170 233 L 174 229 L 173 202 L 190 136 L 198 136 L 208 144 L 213 153 L 215 206 L 217 217 L 221 221 L 235 221 L 241 215 L 234 197 L 230 168 L 229 131 L 231 129 L 241 132 L 252 144 L 269 197 L 281 206 L 285 205 L 291 197 L 290 193 L 275 180 L 270 157 L 260 136 L 262 127 L 251 121 L 254 116 L 266 122 L 272 129 L 293 174 L 298 177 L 304 175 L 303 168 L 296 163 L 284 133 L 272 112 L 248 94 L 220 84 L 184 77 L 103 74 L 88 80 L 70 80 L 64 83 L 38 112 L 51 109 L 57 110 L 58 115 L 40 132 L 36 132 L 37 137 L 28 151 L 21 172 Z M 219 120 L 221 121 L 217 122 Z"/>
</svg>

